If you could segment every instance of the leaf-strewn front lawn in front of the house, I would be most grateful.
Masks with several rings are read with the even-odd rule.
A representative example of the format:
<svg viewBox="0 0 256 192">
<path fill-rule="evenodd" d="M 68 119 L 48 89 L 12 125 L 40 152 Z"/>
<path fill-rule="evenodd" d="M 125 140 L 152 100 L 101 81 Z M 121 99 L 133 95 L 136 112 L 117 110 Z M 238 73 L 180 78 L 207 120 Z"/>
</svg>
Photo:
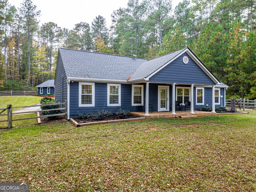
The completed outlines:
<svg viewBox="0 0 256 192">
<path fill-rule="evenodd" d="M 256 111 L 0 130 L 0 182 L 30 191 L 255 191 Z"/>
</svg>

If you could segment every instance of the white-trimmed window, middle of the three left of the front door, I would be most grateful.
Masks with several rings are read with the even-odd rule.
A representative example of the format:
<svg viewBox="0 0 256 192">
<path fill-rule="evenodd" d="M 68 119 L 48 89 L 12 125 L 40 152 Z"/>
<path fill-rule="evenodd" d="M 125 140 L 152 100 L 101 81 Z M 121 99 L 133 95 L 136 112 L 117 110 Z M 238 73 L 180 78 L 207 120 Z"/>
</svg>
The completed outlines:
<svg viewBox="0 0 256 192">
<path fill-rule="evenodd" d="M 108 106 L 121 106 L 121 84 L 108 84 Z"/>
</svg>

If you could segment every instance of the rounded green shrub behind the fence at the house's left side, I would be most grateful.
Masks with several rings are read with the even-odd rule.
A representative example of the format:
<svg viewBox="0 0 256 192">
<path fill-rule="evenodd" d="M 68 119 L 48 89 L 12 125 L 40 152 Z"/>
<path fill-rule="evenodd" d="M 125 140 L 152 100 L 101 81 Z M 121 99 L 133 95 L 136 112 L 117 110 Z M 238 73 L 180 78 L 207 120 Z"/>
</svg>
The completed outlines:
<svg viewBox="0 0 256 192">
<path fill-rule="evenodd" d="M 43 97 L 43 98 L 40 100 L 40 104 L 41 104 L 41 105 L 45 105 L 45 104 L 55 104 L 55 103 L 60 103 L 60 102 L 56 102 L 56 101 L 54 101 L 53 98 L 50 98 L 50 97 Z M 60 105 L 41 106 L 41 110 L 58 109 L 58 108 L 61 108 L 61 106 L 60 106 Z M 62 112 L 61 112 L 60 110 L 52 110 L 52 111 L 43 111 L 43 112 L 42 112 L 43 115 L 52 115 L 52 114 L 59 114 L 59 113 L 62 113 Z M 54 118 L 56 118 L 56 117 L 54 116 L 54 117 L 48 117 L 48 118 L 54 119 Z"/>
</svg>

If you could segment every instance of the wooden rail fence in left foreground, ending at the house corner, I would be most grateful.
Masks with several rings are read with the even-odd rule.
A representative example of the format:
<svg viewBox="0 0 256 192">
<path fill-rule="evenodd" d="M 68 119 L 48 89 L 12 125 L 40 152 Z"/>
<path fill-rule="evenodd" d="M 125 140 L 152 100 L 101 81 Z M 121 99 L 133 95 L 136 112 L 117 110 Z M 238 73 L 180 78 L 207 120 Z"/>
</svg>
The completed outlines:
<svg viewBox="0 0 256 192">
<path fill-rule="evenodd" d="M 40 106 L 54 106 L 54 105 L 59 105 L 58 108 L 54 109 L 46 109 L 46 110 L 24 110 L 23 112 L 15 112 L 13 113 L 13 109 L 17 108 L 28 108 L 28 107 L 38 107 Z M 65 105 L 63 107 L 63 105 Z M 57 114 L 51 114 L 51 115 L 38 115 L 34 117 L 25 117 L 25 118 L 13 118 L 14 115 L 17 114 L 31 114 L 31 113 L 37 113 L 39 114 L 40 112 L 46 112 L 46 111 L 62 111 L 62 113 L 57 113 Z M 0 119 L 0 122 L 7 122 L 6 127 L 1 127 L 1 128 L 12 128 L 12 122 L 13 121 L 20 121 L 20 120 L 27 120 L 27 119 L 34 119 L 34 118 L 46 118 L 46 117 L 54 117 L 54 116 L 65 116 L 66 119 L 68 119 L 68 109 L 67 109 L 67 100 L 64 103 L 55 103 L 55 104 L 44 104 L 44 105 L 32 105 L 32 106 L 21 106 L 21 107 L 13 107 L 11 104 L 8 104 L 7 107 L 5 108 L 0 108 L 0 117 L 1 116 L 7 116 L 7 119 Z"/>
</svg>

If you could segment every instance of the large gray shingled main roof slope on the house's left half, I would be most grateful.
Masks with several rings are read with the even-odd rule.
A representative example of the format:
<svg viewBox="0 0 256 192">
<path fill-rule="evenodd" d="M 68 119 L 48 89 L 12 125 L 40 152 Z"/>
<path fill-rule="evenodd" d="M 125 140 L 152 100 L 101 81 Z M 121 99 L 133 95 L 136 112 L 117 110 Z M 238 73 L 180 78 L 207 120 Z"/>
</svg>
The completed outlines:
<svg viewBox="0 0 256 192">
<path fill-rule="evenodd" d="M 127 80 L 147 59 L 60 48 L 66 76 Z"/>
</svg>

